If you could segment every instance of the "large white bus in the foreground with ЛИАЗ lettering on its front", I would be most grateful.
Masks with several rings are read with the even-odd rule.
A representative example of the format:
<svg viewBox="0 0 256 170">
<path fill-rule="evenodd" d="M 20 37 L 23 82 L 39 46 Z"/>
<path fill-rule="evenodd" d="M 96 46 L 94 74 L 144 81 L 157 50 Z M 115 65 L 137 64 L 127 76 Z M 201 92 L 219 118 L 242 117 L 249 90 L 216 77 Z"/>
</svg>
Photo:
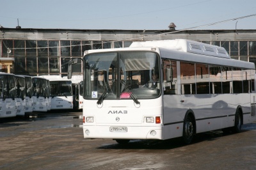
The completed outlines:
<svg viewBox="0 0 256 170">
<path fill-rule="evenodd" d="M 70 60 L 68 77 L 72 75 Z M 190 40 L 84 52 L 84 138 L 171 139 L 255 121 L 255 65 Z M 150 81 L 154 75 L 157 82 Z M 154 88 L 153 88 L 154 84 Z M 85 107 L 86 106 L 86 107 Z"/>
</svg>

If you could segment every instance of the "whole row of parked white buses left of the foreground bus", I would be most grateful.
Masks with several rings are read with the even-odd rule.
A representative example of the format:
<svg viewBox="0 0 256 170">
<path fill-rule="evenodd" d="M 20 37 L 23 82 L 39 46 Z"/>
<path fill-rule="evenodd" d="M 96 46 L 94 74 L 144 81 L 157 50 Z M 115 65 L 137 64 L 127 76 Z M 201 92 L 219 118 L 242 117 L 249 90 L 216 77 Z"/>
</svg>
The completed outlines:
<svg viewBox="0 0 256 170">
<path fill-rule="evenodd" d="M 73 105 L 72 81 L 55 75 L 47 78 L 0 72 L 0 118 L 54 109 L 81 109 Z"/>
</svg>

